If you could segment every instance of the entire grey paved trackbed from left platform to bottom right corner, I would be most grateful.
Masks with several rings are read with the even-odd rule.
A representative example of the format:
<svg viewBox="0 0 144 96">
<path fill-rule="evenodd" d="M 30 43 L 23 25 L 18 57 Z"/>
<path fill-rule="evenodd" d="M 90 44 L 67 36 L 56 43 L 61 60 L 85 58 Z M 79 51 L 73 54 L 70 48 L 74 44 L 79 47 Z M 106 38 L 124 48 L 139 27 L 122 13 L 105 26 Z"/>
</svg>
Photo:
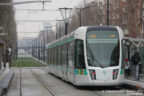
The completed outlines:
<svg viewBox="0 0 144 96">
<path fill-rule="evenodd" d="M 55 93 L 55 96 L 144 96 L 142 92 L 127 88 L 76 87 L 53 75 L 46 68 L 31 68 Z M 31 73 L 30 68 L 22 68 L 22 96 L 52 96 L 49 91 Z M 15 68 L 15 75 L 5 96 L 19 96 L 20 69 Z M 138 95 L 136 95 L 138 94 Z"/>
</svg>

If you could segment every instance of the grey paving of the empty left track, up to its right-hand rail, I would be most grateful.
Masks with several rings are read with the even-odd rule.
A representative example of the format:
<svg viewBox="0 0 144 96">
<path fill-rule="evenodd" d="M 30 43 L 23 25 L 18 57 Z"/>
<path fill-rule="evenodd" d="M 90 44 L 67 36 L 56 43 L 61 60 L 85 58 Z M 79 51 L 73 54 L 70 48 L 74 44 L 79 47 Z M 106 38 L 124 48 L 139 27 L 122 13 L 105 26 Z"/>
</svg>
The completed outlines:
<svg viewBox="0 0 144 96">
<path fill-rule="evenodd" d="M 15 76 L 7 93 L 7 96 L 19 96 L 19 69 L 15 70 Z M 22 96 L 51 96 L 47 89 L 32 75 L 27 68 L 22 69 Z"/>
</svg>

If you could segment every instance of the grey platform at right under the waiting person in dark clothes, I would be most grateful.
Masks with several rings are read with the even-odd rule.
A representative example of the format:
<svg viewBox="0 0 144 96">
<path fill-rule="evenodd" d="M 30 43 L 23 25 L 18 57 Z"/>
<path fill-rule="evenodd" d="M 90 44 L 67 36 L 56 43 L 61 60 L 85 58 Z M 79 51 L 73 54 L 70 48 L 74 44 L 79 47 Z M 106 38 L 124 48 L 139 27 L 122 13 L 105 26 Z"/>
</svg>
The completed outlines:
<svg viewBox="0 0 144 96">
<path fill-rule="evenodd" d="M 134 80 L 132 76 L 126 77 L 124 84 L 135 86 L 136 88 L 142 88 L 144 89 L 144 76 L 140 76 L 139 80 Z"/>
</svg>

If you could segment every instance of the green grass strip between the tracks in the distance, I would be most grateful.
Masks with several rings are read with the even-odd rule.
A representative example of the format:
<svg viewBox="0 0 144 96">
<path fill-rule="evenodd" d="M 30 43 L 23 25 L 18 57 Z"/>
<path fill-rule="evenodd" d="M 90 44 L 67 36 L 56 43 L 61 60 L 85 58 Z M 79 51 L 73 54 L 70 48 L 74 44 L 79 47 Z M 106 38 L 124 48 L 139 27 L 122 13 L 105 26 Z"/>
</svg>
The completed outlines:
<svg viewBox="0 0 144 96">
<path fill-rule="evenodd" d="M 18 60 L 12 61 L 12 67 L 45 67 L 46 65 L 42 64 L 39 61 L 36 61 L 32 57 L 19 57 Z"/>
</svg>

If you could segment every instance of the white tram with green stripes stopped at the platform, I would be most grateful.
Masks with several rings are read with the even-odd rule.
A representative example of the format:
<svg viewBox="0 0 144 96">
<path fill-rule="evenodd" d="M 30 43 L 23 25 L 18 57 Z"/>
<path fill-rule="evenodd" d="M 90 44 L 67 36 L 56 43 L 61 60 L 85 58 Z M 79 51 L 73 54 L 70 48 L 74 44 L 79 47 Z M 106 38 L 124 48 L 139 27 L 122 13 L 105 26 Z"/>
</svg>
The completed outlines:
<svg viewBox="0 0 144 96">
<path fill-rule="evenodd" d="M 78 86 L 120 85 L 122 38 L 117 26 L 80 27 L 47 45 L 48 70 Z"/>
</svg>

